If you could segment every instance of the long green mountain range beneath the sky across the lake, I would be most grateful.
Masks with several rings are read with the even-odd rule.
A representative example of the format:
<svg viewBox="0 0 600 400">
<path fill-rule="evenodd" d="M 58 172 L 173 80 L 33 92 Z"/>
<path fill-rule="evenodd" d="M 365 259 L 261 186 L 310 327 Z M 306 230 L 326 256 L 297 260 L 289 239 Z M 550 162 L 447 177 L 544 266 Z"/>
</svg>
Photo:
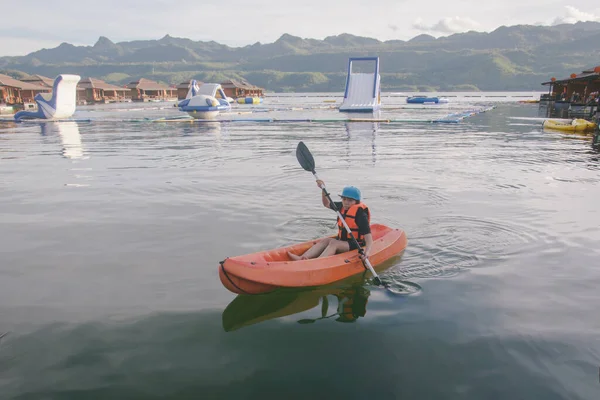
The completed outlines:
<svg viewBox="0 0 600 400">
<path fill-rule="evenodd" d="M 93 46 L 62 43 L 22 57 L 1 57 L 0 70 L 54 77 L 75 73 L 122 85 L 139 77 L 168 84 L 191 78 L 244 78 L 271 91 L 341 91 L 348 57 L 379 56 L 384 91 L 541 90 L 552 76 L 600 65 L 600 23 L 502 26 L 435 38 L 379 41 L 347 33 L 323 40 L 289 34 L 273 43 L 229 47 L 169 35 Z"/>
</svg>

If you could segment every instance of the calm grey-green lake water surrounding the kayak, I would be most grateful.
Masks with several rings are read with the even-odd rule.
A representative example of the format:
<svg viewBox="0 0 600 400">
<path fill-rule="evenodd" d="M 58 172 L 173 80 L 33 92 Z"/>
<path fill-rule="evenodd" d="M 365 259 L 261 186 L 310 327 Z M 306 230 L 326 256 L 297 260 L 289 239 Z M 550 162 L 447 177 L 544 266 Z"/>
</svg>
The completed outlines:
<svg viewBox="0 0 600 400">
<path fill-rule="evenodd" d="M 537 94 L 454 96 L 386 94 L 380 117 L 412 120 L 389 124 L 151 122 L 172 103 L 0 123 L 0 397 L 600 398 L 600 153 L 543 131 L 517 102 Z M 329 99 L 222 118 L 345 118 Z M 407 232 L 381 273 L 402 290 L 223 288 L 225 257 L 334 232 L 300 140 Z"/>
</svg>

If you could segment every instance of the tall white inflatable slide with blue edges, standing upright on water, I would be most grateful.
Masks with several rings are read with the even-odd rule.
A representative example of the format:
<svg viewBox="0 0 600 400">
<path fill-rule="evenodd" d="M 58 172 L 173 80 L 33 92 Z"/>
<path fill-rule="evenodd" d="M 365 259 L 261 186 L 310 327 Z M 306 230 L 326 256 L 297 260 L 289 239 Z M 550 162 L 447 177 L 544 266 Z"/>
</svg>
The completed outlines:
<svg viewBox="0 0 600 400">
<path fill-rule="evenodd" d="M 352 72 L 354 61 L 373 61 L 372 73 Z M 381 107 L 379 57 L 351 57 L 348 60 L 346 91 L 340 106 L 343 112 L 373 112 Z"/>
</svg>

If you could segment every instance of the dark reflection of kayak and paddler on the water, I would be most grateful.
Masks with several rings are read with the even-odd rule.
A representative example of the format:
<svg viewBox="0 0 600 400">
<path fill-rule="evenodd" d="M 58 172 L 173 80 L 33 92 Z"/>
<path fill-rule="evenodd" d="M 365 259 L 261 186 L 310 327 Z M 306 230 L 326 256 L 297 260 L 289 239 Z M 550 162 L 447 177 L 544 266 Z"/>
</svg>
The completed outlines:
<svg viewBox="0 0 600 400">
<path fill-rule="evenodd" d="M 300 324 L 332 319 L 337 322 L 354 322 L 367 313 L 371 292 L 365 287 L 363 274 L 337 285 L 313 289 L 285 289 L 261 295 L 238 295 L 222 315 L 223 329 L 235 331 L 245 326 L 288 315 L 301 313 L 321 305 L 320 317 L 299 319 Z"/>
</svg>

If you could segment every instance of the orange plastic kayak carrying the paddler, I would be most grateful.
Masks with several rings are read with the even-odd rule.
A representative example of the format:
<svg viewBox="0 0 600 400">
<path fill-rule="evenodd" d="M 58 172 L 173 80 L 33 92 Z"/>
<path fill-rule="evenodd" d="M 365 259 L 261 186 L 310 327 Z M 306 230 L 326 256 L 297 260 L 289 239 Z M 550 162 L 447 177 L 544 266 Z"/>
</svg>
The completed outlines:
<svg viewBox="0 0 600 400">
<path fill-rule="evenodd" d="M 373 246 L 369 261 L 373 266 L 406 248 L 406 234 L 401 229 L 373 224 L 371 234 Z M 292 261 L 289 258 L 288 251 L 302 254 L 318 241 L 227 258 L 220 263 L 219 277 L 223 286 L 233 293 L 259 294 L 283 287 L 327 285 L 365 271 L 358 250 L 311 260 Z"/>
</svg>

